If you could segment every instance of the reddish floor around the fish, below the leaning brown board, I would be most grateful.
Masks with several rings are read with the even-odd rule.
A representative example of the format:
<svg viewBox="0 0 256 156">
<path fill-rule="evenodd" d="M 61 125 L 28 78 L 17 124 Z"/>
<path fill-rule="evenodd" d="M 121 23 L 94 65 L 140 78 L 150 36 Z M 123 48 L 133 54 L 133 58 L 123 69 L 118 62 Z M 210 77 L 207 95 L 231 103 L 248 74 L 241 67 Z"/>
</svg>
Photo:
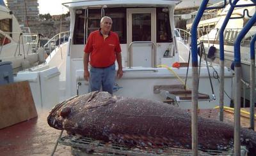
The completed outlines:
<svg viewBox="0 0 256 156">
<path fill-rule="evenodd" d="M 218 113 L 215 109 L 198 110 L 199 116 L 217 120 Z M 48 111 L 40 111 L 37 118 L 0 129 L 0 155 L 51 155 L 60 131 L 49 127 L 47 115 Z M 225 111 L 224 120 L 233 122 L 233 114 Z M 249 118 L 241 117 L 241 126 L 249 125 Z M 70 149 L 70 146 L 58 145 L 54 155 L 72 155 Z"/>
</svg>

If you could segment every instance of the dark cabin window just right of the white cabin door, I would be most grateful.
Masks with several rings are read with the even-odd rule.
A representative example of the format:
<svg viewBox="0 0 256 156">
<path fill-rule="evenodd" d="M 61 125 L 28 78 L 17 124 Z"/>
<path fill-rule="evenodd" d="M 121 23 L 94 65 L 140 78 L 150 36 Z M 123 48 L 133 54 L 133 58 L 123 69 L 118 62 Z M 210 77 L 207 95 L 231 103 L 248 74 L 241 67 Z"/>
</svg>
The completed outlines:
<svg viewBox="0 0 256 156">
<path fill-rule="evenodd" d="M 157 43 L 168 43 L 172 42 L 172 31 L 170 27 L 170 18 L 168 15 L 168 9 L 167 8 L 157 8 Z"/>
</svg>

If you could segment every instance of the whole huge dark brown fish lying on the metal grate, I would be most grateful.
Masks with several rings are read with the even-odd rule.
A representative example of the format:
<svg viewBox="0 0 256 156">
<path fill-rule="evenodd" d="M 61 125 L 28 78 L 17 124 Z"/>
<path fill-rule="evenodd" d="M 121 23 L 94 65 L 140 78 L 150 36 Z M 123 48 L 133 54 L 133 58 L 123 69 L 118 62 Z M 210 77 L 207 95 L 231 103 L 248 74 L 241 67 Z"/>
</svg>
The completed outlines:
<svg viewBox="0 0 256 156">
<path fill-rule="evenodd" d="M 57 104 L 48 124 L 71 134 L 126 146 L 191 149 L 191 114 L 170 104 L 91 92 Z M 198 148 L 227 150 L 234 126 L 198 117 Z M 241 143 L 256 153 L 256 132 L 241 128 Z"/>
</svg>

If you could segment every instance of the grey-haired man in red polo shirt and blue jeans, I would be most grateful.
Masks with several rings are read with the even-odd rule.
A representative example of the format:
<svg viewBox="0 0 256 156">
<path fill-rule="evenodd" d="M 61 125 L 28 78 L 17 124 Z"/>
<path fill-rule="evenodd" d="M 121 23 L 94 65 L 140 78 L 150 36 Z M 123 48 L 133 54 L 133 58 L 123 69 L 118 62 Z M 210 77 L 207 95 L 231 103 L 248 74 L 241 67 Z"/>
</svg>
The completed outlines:
<svg viewBox="0 0 256 156">
<path fill-rule="evenodd" d="M 90 92 L 100 90 L 113 94 L 115 83 L 115 60 L 117 77 L 123 76 L 122 55 L 118 35 L 111 31 L 112 19 L 102 17 L 100 29 L 93 31 L 84 47 L 84 80 L 90 82 Z M 90 73 L 88 62 L 90 56 Z"/>
</svg>

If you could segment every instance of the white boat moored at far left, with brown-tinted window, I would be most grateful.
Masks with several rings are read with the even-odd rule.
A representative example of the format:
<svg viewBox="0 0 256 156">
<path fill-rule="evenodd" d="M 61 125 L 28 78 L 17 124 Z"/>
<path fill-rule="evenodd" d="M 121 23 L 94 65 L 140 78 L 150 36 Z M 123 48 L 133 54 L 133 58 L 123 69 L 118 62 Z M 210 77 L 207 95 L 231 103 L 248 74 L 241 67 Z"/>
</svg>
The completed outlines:
<svg viewBox="0 0 256 156">
<path fill-rule="evenodd" d="M 44 62 L 44 51 L 37 50 L 38 36 L 24 33 L 4 3 L 0 5 L 0 60 L 12 62 L 14 73 Z"/>
</svg>

